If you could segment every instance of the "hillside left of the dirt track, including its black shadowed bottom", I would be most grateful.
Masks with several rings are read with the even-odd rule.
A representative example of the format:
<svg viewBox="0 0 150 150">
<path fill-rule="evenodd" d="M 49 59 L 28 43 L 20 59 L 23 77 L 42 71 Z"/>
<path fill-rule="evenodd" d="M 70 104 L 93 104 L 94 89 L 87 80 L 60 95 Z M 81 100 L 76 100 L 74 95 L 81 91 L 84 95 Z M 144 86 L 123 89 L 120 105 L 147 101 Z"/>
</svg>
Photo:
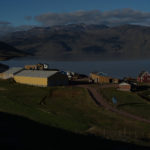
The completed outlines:
<svg viewBox="0 0 150 150">
<path fill-rule="evenodd" d="M 78 142 L 78 146 L 81 146 L 80 143 L 84 141 L 84 145 L 90 143 L 93 146 L 97 143 L 100 148 L 104 146 L 111 150 L 133 149 L 133 146 L 137 150 L 139 145 L 143 146 L 142 150 L 144 146 L 150 147 L 148 123 L 99 107 L 88 91 L 80 87 L 40 88 L 17 84 L 12 80 L 0 80 L 0 121 L 0 144 L 5 141 L 20 146 L 21 140 L 25 146 L 33 144 L 35 148 L 39 144 L 51 147 L 51 142 L 59 146 L 61 141 L 70 146 L 69 140 L 71 144 L 75 142 L 76 146 Z M 72 133 L 72 138 L 69 133 Z M 75 134 L 80 136 L 76 137 Z M 100 142 L 100 139 L 110 142 Z"/>
</svg>

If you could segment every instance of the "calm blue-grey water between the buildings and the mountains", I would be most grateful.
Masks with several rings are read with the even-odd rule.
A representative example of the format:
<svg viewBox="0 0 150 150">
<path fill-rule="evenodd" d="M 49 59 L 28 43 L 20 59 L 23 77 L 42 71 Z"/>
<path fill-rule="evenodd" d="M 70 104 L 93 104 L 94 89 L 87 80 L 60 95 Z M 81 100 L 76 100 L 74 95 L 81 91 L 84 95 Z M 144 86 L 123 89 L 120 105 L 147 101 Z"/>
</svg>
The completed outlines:
<svg viewBox="0 0 150 150">
<path fill-rule="evenodd" d="M 10 67 L 23 67 L 27 64 L 47 63 L 49 68 L 57 68 L 64 71 L 73 71 L 82 74 L 90 72 L 105 72 L 113 77 L 136 77 L 140 71 L 146 70 L 150 72 L 150 60 L 137 61 L 42 61 L 35 59 L 12 59 L 9 61 L 1 61 Z"/>
</svg>

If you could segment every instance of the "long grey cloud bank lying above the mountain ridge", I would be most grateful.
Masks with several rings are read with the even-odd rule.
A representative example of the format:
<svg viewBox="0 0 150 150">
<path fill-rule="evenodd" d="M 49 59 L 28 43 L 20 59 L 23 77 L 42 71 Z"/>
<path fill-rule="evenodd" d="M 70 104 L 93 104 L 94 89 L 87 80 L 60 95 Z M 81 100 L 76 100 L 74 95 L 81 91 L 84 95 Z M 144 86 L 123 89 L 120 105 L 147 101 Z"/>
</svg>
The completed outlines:
<svg viewBox="0 0 150 150">
<path fill-rule="evenodd" d="M 150 13 L 133 10 L 130 8 L 116 9 L 101 12 L 75 11 L 69 13 L 45 13 L 35 16 L 34 19 L 42 26 L 54 26 L 65 24 L 105 24 L 109 26 L 122 24 L 145 24 L 150 25 Z"/>
</svg>

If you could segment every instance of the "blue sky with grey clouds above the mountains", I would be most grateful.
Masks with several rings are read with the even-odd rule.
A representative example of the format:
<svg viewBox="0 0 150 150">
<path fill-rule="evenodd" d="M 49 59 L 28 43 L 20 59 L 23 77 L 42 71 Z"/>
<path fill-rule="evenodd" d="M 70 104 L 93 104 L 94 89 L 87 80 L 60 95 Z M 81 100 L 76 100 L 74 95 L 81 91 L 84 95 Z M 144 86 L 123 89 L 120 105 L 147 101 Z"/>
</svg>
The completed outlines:
<svg viewBox="0 0 150 150">
<path fill-rule="evenodd" d="M 149 25 L 149 6 L 150 0 L 0 0 L 0 31 L 15 30 L 16 26 L 28 29 L 31 25 L 81 22 L 107 25 L 144 22 Z M 120 17 L 123 18 L 121 23 Z"/>
</svg>

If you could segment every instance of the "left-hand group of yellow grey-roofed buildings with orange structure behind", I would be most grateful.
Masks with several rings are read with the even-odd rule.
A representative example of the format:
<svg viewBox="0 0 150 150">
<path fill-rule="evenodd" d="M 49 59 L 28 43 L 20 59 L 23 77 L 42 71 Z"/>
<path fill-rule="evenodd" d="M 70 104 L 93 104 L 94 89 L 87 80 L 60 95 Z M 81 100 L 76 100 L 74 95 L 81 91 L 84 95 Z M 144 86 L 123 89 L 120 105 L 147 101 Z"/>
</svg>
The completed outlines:
<svg viewBox="0 0 150 150">
<path fill-rule="evenodd" d="M 24 68 L 10 68 L 5 72 L 0 73 L 0 78 L 13 78 L 17 83 L 41 87 L 69 84 L 68 76 L 61 71 L 58 71 L 56 69 L 48 69 L 47 67 L 42 68 L 41 66 L 40 68 L 36 68 L 35 66 L 28 65 Z"/>
</svg>

